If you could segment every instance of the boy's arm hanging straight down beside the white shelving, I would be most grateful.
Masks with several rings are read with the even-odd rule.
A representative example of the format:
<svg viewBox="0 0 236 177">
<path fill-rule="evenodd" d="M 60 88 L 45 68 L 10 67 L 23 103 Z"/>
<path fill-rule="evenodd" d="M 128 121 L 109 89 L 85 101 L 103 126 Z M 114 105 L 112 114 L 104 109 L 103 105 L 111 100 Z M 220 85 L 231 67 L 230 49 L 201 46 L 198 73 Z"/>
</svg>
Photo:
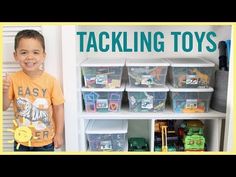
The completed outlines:
<svg viewBox="0 0 236 177">
<path fill-rule="evenodd" d="M 55 148 L 60 148 L 64 143 L 64 104 L 53 105 L 53 118 L 55 121 L 54 146 Z"/>
</svg>

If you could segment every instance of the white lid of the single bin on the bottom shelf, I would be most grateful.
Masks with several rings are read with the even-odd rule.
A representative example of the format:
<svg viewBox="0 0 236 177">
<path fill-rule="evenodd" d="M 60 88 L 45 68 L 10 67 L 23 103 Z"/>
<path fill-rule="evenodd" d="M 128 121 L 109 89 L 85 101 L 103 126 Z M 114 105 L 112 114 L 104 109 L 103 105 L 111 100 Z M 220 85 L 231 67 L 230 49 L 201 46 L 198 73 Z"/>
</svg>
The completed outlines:
<svg viewBox="0 0 236 177">
<path fill-rule="evenodd" d="M 86 134 L 119 134 L 127 133 L 128 120 L 89 120 Z"/>
</svg>

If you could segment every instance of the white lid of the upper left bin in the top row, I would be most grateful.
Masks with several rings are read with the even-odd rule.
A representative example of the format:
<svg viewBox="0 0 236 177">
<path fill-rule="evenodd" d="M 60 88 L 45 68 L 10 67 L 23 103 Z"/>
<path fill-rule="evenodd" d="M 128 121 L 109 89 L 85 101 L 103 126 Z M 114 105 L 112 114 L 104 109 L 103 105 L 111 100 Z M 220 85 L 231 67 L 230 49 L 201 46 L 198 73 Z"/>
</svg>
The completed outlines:
<svg viewBox="0 0 236 177">
<path fill-rule="evenodd" d="M 125 65 L 125 59 L 121 58 L 88 58 L 80 64 L 81 67 L 115 67 Z"/>
</svg>

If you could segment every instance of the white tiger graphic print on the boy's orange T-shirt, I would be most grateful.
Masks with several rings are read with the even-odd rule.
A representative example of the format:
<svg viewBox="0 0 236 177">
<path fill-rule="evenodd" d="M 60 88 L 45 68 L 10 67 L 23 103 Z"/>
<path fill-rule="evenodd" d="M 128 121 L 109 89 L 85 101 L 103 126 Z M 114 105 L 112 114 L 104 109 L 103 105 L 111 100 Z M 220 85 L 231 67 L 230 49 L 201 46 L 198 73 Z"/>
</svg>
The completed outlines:
<svg viewBox="0 0 236 177">
<path fill-rule="evenodd" d="M 20 117 L 24 117 L 25 126 L 29 126 L 30 123 L 36 130 L 43 130 L 50 125 L 48 118 L 48 102 L 44 98 L 37 98 L 34 103 L 31 103 L 29 99 L 19 97 L 16 99 L 17 112 Z"/>
</svg>

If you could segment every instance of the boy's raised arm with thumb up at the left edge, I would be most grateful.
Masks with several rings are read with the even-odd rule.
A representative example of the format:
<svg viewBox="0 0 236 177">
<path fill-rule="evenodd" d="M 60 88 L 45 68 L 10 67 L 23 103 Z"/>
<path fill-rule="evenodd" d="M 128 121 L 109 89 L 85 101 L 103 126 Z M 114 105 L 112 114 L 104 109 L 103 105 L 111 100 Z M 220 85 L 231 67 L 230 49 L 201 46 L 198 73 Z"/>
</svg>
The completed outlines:
<svg viewBox="0 0 236 177">
<path fill-rule="evenodd" d="M 11 100 L 9 99 L 10 86 L 11 78 L 6 74 L 6 77 L 3 78 L 3 111 L 6 111 L 11 104 Z"/>
</svg>

